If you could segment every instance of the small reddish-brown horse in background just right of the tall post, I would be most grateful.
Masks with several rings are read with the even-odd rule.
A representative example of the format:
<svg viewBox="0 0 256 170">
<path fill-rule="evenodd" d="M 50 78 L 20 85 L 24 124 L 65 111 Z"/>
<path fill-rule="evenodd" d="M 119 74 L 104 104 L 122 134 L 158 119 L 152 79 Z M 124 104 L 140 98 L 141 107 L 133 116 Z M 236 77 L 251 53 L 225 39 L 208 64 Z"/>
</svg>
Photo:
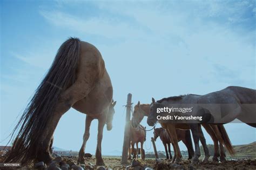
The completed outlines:
<svg viewBox="0 0 256 170">
<path fill-rule="evenodd" d="M 136 128 L 134 128 L 134 126 L 132 125 L 131 122 L 131 126 L 130 126 L 130 144 L 131 144 L 131 151 L 134 151 L 134 144 L 136 144 L 136 153 L 132 153 L 133 154 L 133 158 L 139 158 L 139 147 L 138 144 L 140 142 L 140 153 L 144 153 L 144 149 L 143 149 L 143 144 L 144 141 L 146 141 L 146 128 L 143 127 L 142 125 L 138 125 Z M 128 151 L 128 158 L 131 159 L 131 151 L 129 148 Z M 145 154 L 140 154 L 140 159 L 145 159 Z"/>
</svg>

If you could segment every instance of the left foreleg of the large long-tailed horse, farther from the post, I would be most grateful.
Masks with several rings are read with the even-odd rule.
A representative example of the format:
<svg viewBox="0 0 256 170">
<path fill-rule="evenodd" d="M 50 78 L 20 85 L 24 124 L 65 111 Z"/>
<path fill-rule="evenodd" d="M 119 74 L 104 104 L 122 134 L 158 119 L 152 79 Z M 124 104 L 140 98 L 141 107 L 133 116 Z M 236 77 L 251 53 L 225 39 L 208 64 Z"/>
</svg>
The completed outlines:
<svg viewBox="0 0 256 170">
<path fill-rule="evenodd" d="M 85 132 L 84 132 L 84 136 L 83 136 L 83 144 L 80 148 L 79 154 L 78 154 L 78 162 L 80 164 L 85 164 L 85 159 L 84 159 L 84 149 L 85 149 L 85 145 L 87 140 L 90 137 L 90 126 L 91 126 L 91 122 L 92 122 L 93 118 L 86 115 L 86 120 L 85 120 Z"/>
</svg>

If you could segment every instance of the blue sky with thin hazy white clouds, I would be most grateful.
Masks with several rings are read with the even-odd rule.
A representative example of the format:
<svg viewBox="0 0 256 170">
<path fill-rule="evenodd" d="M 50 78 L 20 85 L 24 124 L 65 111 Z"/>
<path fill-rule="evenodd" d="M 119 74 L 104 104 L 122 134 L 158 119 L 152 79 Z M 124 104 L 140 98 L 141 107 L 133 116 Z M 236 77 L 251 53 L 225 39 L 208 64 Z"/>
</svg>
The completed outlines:
<svg viewBox="0 0 256 170">
<path fill-rule="evenodd" d="M 129 92 L 136 104 L 229 85 L 256 89 L 255 18 L 255 1 L 1 1 L 0 145 L 70 36 L 99 49 L 112 80 L 116 114 L 102 145 L 108 154 L 122 151 Z M 78 151 L 84 123 L 85 114 L 68 111 L 53 145 Z M 256 140 L 250 126 L 225 127 L 233 144 Z M 94 154 L 96 120 L 90 134 L 86 152 Z M 151 137 L 148 132 L 147 148 Z M 164 150 L 160 141 L 157 148 Z"/>
</svg>

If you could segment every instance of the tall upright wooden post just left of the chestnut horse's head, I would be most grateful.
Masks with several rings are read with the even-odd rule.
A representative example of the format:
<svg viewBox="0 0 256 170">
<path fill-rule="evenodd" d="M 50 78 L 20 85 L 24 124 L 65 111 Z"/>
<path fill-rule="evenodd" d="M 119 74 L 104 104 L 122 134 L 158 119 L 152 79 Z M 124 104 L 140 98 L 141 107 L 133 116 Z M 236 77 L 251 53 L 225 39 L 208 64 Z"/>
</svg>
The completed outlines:
<svg viewBox="0 0 256 170">
<path fill-rule="evenodd" d="M 126 118 L 125 118 L 125 129 L 124 129 L 124 144 L 121 164 L 126 165 L 128 157 L 128 149 L 130 148 L 130 119 L 131 119 L 131 107 L 132 107 L 132 94 L 127 95 L 126 104 Z"/>
</svg>

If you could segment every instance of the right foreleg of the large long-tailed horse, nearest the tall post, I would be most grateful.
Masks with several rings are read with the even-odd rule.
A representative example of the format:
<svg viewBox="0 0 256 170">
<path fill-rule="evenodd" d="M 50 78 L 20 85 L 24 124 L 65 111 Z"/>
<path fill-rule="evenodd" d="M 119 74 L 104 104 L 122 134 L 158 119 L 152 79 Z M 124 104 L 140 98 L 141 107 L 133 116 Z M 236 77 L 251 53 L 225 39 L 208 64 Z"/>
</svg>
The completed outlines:
<svg viewBox="0 0 256 170">
<path fill-rule="evenodd" d="M 104 112 L 105 113 L 105 112 Z M 98 119 L 98 138 L 97 138 L 97 148 L 96 148 L 96 165 L 104 165 L 102 159 L 102 138 L 103 138 L 103 128 L 106 123 L 106 114 L 102 114 L 102 117 Z"/>
</svg>

